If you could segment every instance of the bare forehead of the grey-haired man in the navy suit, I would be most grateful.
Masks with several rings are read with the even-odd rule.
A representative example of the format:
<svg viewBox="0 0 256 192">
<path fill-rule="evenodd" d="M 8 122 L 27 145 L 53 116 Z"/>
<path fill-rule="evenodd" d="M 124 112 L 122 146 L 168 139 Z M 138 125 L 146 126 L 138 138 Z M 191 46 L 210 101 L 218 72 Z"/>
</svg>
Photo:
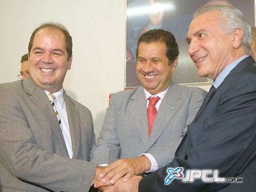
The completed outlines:
<svg viewBox="0 0 256 192">
<path fill-rule="evenodd" d="M 211 31 L 220 28 L 221 12 L 211 10 L 197 15 L 189 25 L 188 36 L 193 36 L 200 30 Z"/>
</svg>

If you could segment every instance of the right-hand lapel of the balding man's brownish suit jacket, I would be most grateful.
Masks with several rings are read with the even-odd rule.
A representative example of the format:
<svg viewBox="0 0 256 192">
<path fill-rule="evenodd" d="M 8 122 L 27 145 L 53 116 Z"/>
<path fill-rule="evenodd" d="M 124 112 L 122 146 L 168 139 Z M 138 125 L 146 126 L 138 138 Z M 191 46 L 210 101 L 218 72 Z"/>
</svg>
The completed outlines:
<svg viewBox="0 0 256 192">
<path fill-rule="evenodd" d="M 64 92 L 64 100 L 67 109 L 67 116 L 68 116 L 68 126 L 72 141 L 72 150 L 73 150 L 73 159 L 76 159 L 78 150 L 79 150 L 79 138 L 80 138 L 80 118 L 79 113 L 74 107 L 74 103 L 67 94 Z"/>
</svg>

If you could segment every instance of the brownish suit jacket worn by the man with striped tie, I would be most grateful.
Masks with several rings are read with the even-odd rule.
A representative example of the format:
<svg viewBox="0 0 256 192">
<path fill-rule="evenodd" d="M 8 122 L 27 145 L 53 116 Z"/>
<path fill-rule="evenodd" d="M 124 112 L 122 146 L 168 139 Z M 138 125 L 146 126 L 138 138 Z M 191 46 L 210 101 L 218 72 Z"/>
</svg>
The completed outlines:
<svg viewBox="0 0 256 192">
<path fill-rule="evenodd" d="M 92 114 L 64 93 L 73 158 L 51 102 L 30 77 L 0 84 L 0 191 L 88 191 Z"/>
</svg>

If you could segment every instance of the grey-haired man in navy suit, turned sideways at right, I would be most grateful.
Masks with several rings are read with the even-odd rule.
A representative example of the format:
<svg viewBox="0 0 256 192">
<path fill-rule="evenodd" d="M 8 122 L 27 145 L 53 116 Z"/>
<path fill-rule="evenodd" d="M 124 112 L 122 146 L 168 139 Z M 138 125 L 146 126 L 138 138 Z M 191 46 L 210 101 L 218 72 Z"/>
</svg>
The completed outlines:
<svg viewBox="0 0 256 192">
<path fill-rule="evenodd" d="M 214 79 L 213 86 L 173 161 L 143 179 L 118 180 L 109 191 L 255 191 L 256 64 L 248 56 L 250 26 L 231 5 L 204 6 L 194 15 L 187 37 L 189 56 L 200 76 Z M 184 182 L 184 175 L 168 173 L 168 168 L 180 167 L 184 175 L 186 170 L 218 170 L 219 175 L 205 177 L 236 177 L 243 183 L 200 178 Z"/>
</svg>

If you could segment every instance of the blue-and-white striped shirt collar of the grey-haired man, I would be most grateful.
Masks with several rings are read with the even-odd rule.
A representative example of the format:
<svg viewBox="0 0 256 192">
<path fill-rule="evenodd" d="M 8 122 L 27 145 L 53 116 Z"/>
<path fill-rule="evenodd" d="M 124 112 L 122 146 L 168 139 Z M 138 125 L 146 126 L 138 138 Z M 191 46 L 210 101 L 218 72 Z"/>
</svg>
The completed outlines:
<svg viewBox="0 0 256 192">
<path fill-rule="evenodd" d="M 247 57 L 248 55 L 244 55 L 238 60 L 234 61 L 233 63 L 230 63 L 227 67 L 225 67 L 221 71 L 221 73 L 218 75 L 218 77 L 213 81 L 212 85 L 215 88 L 218 88 L 218 86 L 220 86 L 220 84 L 224 81 L 224 79 L 228 76 L 228 74 L 230 74 L 231 70 L 235 68 L 240 63 L 240 61 L 242 61 L 244 58 L 247 58 Z"/>
</svg>

